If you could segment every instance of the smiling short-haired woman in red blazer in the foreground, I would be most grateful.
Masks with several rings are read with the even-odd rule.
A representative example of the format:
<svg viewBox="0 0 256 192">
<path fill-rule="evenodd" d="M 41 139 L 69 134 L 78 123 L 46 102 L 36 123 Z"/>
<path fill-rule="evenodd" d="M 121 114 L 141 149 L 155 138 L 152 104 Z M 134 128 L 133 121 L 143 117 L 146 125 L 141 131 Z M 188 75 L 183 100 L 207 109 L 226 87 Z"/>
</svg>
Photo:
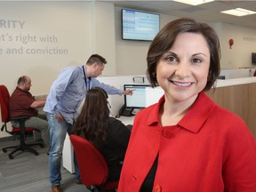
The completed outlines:
<svg viewBox="0 0 256 192">
<path fill-rule="evenodd" d="M 135 117 L 118 192 L 255 192 L 256 145 L 244 121 L 204 92 L 220 75 L 214 30 L 173 20 L 148 50 L 164 96 Z"/>
</svg>

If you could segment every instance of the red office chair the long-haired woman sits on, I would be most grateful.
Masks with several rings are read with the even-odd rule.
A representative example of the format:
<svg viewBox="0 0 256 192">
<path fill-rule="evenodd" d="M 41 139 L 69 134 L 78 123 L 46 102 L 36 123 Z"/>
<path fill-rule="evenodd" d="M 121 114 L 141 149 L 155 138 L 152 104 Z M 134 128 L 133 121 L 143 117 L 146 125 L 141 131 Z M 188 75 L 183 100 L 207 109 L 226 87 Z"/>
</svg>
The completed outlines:
<svg viewBox="0 0 256 192">
<path fill-rule="evenodd" d="M 81 179 L 90 191 L 113 190 L 118 181 L 108 182 L 108 165 L 100 151 L 89 140 L 71 134 L 69 139 L 74 147 Z"/>
</svg>

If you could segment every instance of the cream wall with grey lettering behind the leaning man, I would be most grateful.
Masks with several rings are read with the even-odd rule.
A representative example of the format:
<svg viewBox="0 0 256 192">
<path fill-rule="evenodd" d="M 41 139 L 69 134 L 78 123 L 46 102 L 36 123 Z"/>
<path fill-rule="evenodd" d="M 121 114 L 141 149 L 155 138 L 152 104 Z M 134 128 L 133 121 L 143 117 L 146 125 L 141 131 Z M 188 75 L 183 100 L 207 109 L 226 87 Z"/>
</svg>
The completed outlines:
<svg viewBox="0 0 256 192">
<path fill-rule="evenodd" d="M 52 42 L 42 42 L 47 36 Z M 47 53 L 47 49 L 67 53 Z M 4 66 L 0 78 L 10 92 L 18 77 L 27 75 L 32 79 L 31 92 L 45 94 L 62 68 L 84 65 L 92 53 L 108 60 L 104 75 L 116 75 L 113 4 L 0 2 L 0 60 Z"/>
</svg>

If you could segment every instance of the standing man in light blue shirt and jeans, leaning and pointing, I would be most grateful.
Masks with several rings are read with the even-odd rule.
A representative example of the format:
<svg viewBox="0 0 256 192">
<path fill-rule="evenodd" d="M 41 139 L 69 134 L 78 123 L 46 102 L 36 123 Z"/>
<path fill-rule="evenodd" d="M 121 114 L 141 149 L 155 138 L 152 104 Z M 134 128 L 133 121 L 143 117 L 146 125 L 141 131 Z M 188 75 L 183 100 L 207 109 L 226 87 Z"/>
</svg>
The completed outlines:
<svg viewBox="0 0 256 192">
<path fill-rule="evenodd" d="M 46 112 L 50 130 L 50 180 L 52 192 L 60 191 L 60 166 L 63 143 L 66 134 L 78 116 L 77 108 L 84 99 L 86 92 L 92 87 L 101 87 L 108 94 L 132 94 L 132 90 L 122 91 L 114 86 L 100 83 L 100 76 L 107 60 L 98 54 L 92 54 L 85 66 L 64 68 L 53 82 L 48 94 L 44 111 Z M 80 172 L 74 158 L 76 183 L 81 184 Z"/>
</svg>

